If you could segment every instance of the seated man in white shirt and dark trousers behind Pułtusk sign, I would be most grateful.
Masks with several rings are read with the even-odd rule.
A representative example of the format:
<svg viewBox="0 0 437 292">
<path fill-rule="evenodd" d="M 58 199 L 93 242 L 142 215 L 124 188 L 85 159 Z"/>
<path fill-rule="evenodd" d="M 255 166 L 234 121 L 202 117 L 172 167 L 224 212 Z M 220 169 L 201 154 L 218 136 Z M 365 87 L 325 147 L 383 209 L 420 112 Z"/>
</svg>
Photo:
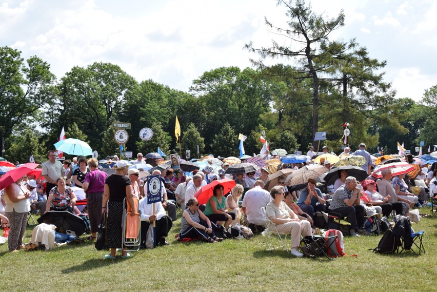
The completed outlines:
<svg viewBox="0 0 437 292">
<path fill-rule="evenodd" d="M 157 245 L 168 245 L 169 243 L 165 240 L 168 236 L 168 232 L 173 226 L 173 222 L 170 217 L 165 213 L 164 207 L 161 202 L 155 203 L 155 213 L 153 213 L 153 204 L 147 204 L 147 198 L 143 198 L 138 203 L 138 211 L 141 211 L 141 243 L 144 244 L 147 238 L 147 230 L 150 224 L 155 221 L 155 231 L 156 231 L 156 244 Z"/>
</svg>

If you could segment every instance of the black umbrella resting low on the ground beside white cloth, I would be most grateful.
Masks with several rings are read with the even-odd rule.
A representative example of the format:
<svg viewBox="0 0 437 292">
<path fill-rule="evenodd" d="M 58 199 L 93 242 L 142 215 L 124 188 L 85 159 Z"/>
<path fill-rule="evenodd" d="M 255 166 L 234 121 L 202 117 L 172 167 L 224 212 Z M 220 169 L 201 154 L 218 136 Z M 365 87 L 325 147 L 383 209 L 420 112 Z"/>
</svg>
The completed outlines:
<svg viewBox="0 0 437 292">
<path fill-rule="evenodd" d="M 81 217 L 68 211 L 48 211 L 38 218 L 38 223 L 48 223 L 56 226 L 56 231 L 67 233 L 67 230 L 74 231 L 76 236 L 83 235 L 86 231 L 86 224 Z"/>
</svg>

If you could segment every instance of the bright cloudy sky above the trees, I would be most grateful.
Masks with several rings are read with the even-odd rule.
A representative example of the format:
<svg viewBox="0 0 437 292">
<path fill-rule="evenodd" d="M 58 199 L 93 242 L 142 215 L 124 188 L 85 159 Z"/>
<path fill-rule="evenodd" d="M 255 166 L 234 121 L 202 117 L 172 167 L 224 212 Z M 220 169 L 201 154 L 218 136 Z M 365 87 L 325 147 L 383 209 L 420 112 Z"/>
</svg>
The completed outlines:
<svg viewBox="0 0 437 292">
<path fill-rule="evenodd" d="M 0 0 L 0 46 L 36 55 L 58 79 L 74 66 L 120 66 L 138 82 L 188 91 L 219 67 L 251 67 L 244 49 L 284 42 L 265 25 L 287 27 L 276 0 Z M 313 0 L 312 10 L 345 26 L 332 39 L 355 38 L 369 56 L 387 61 L 384 81 L 397 98 L 420 101 L 437 84 L 437 1 Z M 287 43 L 284 43 L 287 44 Z M 293 64 L 291 60 L 266 61 Z"/>
</svg>

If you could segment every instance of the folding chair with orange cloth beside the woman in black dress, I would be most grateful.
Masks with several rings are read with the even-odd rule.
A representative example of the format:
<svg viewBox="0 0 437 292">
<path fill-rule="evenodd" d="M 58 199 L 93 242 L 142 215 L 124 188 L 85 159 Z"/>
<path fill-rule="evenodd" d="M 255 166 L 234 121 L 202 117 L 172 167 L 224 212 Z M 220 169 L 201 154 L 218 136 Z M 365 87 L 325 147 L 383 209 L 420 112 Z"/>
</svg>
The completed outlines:
<svg viewBox="0 0 437 292">
<path fill-rule="evenodd" d="M 129 204 L 126 198 L 123 201 L 123 237 L 122 245 L 126 251 L 138 251 L 141 242 L 141 217 L 138 213 L 138 199 L 133 198 L 134 206 Z M 131 216 L 131 213 L 135 216 Z"/>
</svg>

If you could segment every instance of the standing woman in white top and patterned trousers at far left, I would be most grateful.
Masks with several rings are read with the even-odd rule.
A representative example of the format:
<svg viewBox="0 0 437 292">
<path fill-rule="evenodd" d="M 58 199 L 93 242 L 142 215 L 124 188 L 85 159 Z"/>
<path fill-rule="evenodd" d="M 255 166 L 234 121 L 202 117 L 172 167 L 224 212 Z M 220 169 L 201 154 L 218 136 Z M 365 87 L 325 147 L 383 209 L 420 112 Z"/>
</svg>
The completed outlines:
<svg viewBox="0 0 437 292">
<path fill-rule="evenodd" d="M 23 178 L 5 188 L 6 201 L 5 215 L 9 220 L 9 251 L 18 251 L 23 244 L 26 231 L 27 215 L 30 211 L 30 191 L 22 186 Z"/>
</svg>

